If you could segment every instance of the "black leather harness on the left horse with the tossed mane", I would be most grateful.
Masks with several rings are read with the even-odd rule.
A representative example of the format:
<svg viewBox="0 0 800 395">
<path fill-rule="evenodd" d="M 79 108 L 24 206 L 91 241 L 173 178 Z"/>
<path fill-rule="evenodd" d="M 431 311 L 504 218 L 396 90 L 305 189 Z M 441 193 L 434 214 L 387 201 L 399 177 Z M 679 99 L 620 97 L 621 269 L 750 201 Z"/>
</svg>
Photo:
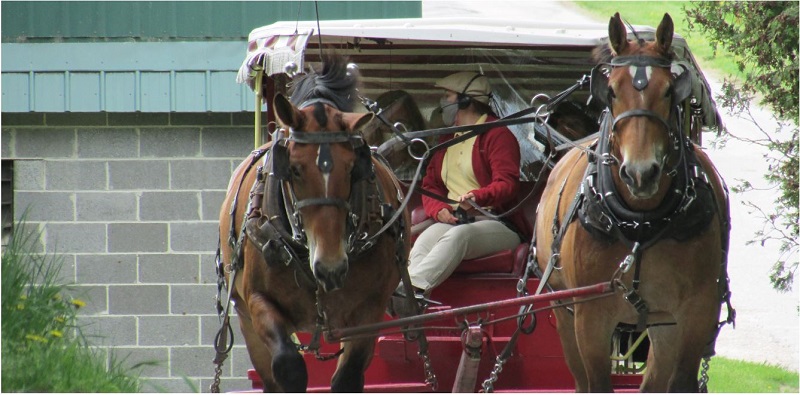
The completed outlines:
<svg viewBox="0 0 800 395">
<path fill-rule="evenodd" d="M 338 133 L 338 134 L 337 134 Z M 392 217 L 394 208 L 385 201 L 387 191 L 384 191 L 380 182 L 375 177 L 373 163 L 369 148 L 366 148 L 366 158 L 357 157 L 353 172 L 360 175 L 352 177 L 350 199 L 348 201 L 336 198 L 309 198 L 298 200 L 294 195 L 291 180 L 286 176 L 288 161 L 281 163 L 282 150 L 286 150 L 288 141 L 301 144 L 325 144 L 344 142 L 342 132 L 303 133 L 290 131 L 288 137 L 282 136 L 283 131 L 276 132 L 276 138 L 269 149 L 253 151 L 253 161 L 245 173 L 253 167 L 253 162 L 261 160 L 258 166 L 256 182 L 250 190 L 250 203 L 244 221 L 243 234 L 247 235 L 250 242 L 258 248 L 265 261 L 270 266 L 293 266 L 295 273 L 300 274 L 309 289 L 316 289 L 316 281 L 311 272 L 308 261 L 308 247 L 302 226 L 300 209 L 312 205 L 333 205 L 348 211 L 347 234 L 348 259 L 356 259 L 361 254 L 374 246 L 374 238 L 378 231 Z M 360 139 L 356 139 L 360 141 Z M 360 149 L 354 144 L 354 149 Z M 329 166 L 328 159 L 324 158 L 325 148 L 320 150 L 318 165 Z M 357 153 L 357 156 L 364 155 Z M 368 166 L 368 167 L 366 167 Z M 383 166 L 383 164 L 381 164 Z M 277 170 L 280 169 L 280 170 Z M 242 177 L 244 179 L 244 177 Z M 396 184 L 396 181 L 395 181 Z M 240 184 L 241 185 L 241 184 Z M 399 185 L 396 185 L 399 189 Z M 398 192 L 400 193 L 400 192 Z M 399 196 L 402 200 L 402 196 Z M 232 210 L 232 215 L 234 210 Z M 402 232 L 397 226 L 390 226 L 387 231 L 392 235 Z M 233 224 L 231 225 L 234 226 Z M 232 229 L 233 232 L 233 229 Z M 237 243 L 238 244 L 238 243 Z M 241 257 L 241 248 L 237 249 L 237 258 Z M 299 283 L 299 281 L 298 281 Z"/>
</svg>

